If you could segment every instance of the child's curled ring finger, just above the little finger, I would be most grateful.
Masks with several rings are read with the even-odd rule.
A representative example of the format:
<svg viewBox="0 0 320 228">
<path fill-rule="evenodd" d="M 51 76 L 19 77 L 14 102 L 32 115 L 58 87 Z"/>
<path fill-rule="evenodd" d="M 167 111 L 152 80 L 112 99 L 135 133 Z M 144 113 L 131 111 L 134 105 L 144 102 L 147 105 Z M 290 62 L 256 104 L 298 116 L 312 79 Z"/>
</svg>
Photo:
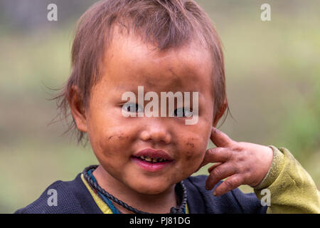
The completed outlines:
<svg viewBox="0 0 320 228">
<path fill-rule="evenodd" d="M 226 162 L 223 163 L 223 165 L 215 167 L 215 169 L 210 172 L 210 175 L 206 180 L 206 190 L 212 190 L 220 180 L 223 180 L 226 177 L 230 177 L 236 172 L 237 169 L 235 168 L 235 165 L 231 164 L 230 162 Z"/>
</svg>

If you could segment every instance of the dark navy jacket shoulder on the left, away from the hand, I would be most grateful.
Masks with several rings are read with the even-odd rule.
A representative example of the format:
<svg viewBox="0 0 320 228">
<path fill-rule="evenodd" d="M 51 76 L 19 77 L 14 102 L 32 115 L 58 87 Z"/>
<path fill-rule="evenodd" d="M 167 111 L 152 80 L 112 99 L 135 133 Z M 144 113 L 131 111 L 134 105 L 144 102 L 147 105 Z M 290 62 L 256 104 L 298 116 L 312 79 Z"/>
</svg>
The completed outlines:
<svg viewBox="0 0 320 228">
<path fill-rule="evenodd" d="M 53 182 L 36 201 L 16 210 L 16 214 L 83 214 L 99 213 L 80 174 L 72 181 Z"/>
</svg>

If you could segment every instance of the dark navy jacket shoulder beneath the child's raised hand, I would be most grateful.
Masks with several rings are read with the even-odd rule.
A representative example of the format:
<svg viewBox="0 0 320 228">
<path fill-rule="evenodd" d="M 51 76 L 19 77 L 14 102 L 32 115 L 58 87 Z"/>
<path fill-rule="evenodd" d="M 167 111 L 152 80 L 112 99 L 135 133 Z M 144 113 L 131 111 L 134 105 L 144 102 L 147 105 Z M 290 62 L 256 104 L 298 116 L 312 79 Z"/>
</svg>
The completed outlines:
<svg viewBox="0 0 320 228">
<path fill-rule="evenodd" d="M 188 206 L 191 213 L 265 213 L 254 193 L 244 194 L 238 188 L 219 197 L 213 196 L 213 190 L 222 183 L 220 181 L 213 190 L 206 190 L 208 175 L 191 176 L 184 180 L 188 194 Z"/>
</svg>

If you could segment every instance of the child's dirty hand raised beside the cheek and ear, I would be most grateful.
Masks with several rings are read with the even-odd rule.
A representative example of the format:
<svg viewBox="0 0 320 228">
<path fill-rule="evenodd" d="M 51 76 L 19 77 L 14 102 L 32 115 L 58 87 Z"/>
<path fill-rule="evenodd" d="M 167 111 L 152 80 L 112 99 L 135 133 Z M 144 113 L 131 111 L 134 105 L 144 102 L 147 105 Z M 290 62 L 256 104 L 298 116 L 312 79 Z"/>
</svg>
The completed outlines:
<svg viewBox="0 0 320 228">
<path fill-rule="evenodd" d="M 208 169 L 210 175 L 206 181 L 207 190 L 212 190 L 226 177 L 227 180 L 215 189 L 214 195 L 223 195 L 240 185 L 255 187 L 262 182 L 272 164 L 272 148 L 249 142 L 235 142 L 216 128 L 212 128 L 210 139 L 217 147 L 206 151 L 200 165 L 202 167 L 210 162 L 217 162 Z"/>
</svg>

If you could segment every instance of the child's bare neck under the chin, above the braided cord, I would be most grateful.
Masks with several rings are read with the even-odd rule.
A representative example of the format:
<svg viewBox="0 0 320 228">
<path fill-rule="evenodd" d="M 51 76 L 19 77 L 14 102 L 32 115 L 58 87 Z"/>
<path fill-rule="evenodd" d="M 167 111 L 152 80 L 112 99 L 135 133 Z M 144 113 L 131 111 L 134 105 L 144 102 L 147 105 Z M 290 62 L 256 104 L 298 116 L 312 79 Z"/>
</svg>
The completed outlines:
<svg viewBox="0 0 320 228">
<path fill-rule="evenodd" d="M 111 195 L 117 197 L 117 199 L 125 202 L 129 206 L 141 211 L 165 214 L 170 212 L 171 207 L 176 207 L 177 196 L 174 191 L 174 185 L 159 194 L 147 195 L 136 192 L 127 187 L 127 185 L 124 185 L 124 183 L 119 182 L 119 180 L 115 179 L 105 171 L 101 165 L 99 165 L 92 174 L 95 176 L 100 187 L 105 191 L 109 192 Z M 133 213 L 115 202 L 112 203 L 114 204 L 114 207 L 117 207 L 117 209 L 124 214 Z"/>
</svg>

